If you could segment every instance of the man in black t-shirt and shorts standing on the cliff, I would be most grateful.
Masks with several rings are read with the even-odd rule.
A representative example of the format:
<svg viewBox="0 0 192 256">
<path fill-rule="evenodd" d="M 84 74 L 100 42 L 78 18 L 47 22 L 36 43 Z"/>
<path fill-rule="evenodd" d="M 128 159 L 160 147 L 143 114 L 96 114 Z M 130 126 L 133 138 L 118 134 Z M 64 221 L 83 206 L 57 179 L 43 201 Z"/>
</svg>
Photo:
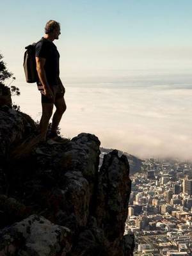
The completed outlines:
<svg viewBox="0 0 192 256">
<path fill-rule="evenodd" d="M 53 44 L 54 40 L 59 39 L 60 34 L 60 23 L 55 20 L 49 20 L 45 25 L 45 35 L 36 44 L 35 49 L 36 70 L 39 77 L 37 85 L 42 94 L 41 139 L 42 141 L 46 140 L 52 109 L 53 106 L 56 106 L 56 111 L 52 117 L 51 134 L 49 134 L 49 139 L 53 143 L 61 140 L 56 131 L 66 110 L 65 88 L 60 79 L 60 54 L 56 45 Z"/>
</svg>

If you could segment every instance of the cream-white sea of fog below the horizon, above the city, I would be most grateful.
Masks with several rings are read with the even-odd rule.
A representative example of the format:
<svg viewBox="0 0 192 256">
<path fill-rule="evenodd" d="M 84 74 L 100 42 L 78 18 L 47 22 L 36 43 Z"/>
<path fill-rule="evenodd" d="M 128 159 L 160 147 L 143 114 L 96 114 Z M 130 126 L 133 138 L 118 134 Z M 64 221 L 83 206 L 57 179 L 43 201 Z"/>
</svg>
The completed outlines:
<svg viewBox="0 0 192 256">
<path fill-rule="evenodd" d="M 61 78 L 67 103 L 60 124 L 63 136 L 89 132 L 102 147 L 138 157 L 192 159 L 192 73 L 116 70 Z M 14 85 L 21 95 L 13 102 L 40 120 L 36 84 L 20 79 Z"/>
</svg>

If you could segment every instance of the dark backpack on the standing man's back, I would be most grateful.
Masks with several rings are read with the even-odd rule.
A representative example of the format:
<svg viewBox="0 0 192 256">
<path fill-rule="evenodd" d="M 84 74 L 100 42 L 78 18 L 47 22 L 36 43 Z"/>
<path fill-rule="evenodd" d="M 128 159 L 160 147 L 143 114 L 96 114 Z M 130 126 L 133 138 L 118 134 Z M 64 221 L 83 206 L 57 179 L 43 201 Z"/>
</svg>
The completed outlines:
<svg viewBox="0 0 192 256">
<path fill-rule="evenodd" d="M 39 81 L 38 74 L 36 71 L 36 60 L 35 60 L 35 47 L 38 42 L 30 44 L 25 47 L 27 51 L 24 53 L 23 67 L 24 67 L 27 83 L 36 83 Z"/>
</svg>

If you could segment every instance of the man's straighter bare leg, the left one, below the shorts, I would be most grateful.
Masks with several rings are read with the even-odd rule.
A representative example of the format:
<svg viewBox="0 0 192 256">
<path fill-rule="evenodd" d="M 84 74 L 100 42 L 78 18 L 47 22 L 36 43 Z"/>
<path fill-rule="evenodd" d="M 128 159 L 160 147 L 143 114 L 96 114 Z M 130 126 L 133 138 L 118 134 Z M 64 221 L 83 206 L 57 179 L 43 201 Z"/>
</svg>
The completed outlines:
<svg viewBox="0 0 192 256">
<path fill-rule="evenodd" d="M 42 140 L 46 140 L 49 120 L 52 115 L 53 103 L 42 103 L 42 118 L 40 120 L 40 132 Z"/>
</svg>

